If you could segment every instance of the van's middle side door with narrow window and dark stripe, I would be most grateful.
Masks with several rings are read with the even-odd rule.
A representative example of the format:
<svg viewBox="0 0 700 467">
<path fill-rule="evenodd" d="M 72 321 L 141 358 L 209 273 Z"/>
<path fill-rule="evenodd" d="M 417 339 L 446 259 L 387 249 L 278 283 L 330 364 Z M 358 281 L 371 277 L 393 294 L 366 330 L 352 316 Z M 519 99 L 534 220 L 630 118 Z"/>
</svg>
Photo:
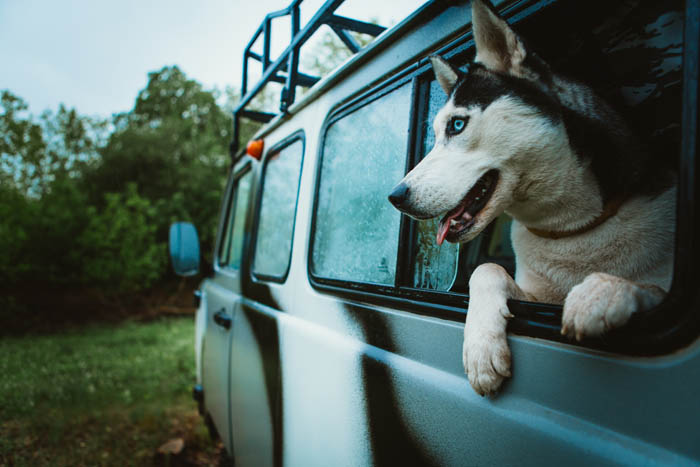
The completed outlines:
<svg viewBox="0 0 700 467">
<path fill-rule="evenodd" d="M 243 298 L 231 351 L 231 420 L 236 465 L 281 462 L 278 316 L 296 293 L 290 268 L 304 136 L 296 132 L 265 154 L 251 245 L 245 251 Z M 252 218 L 253 216 L 251 216 Z"/>
</svg>

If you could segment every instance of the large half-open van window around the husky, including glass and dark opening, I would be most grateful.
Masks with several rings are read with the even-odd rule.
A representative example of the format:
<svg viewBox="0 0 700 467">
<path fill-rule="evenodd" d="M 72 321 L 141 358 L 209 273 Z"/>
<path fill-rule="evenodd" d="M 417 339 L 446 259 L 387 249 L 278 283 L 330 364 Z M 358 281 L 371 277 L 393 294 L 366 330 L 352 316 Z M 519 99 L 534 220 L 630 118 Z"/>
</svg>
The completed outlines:
<svg viewBox="0 0 700 467">
<path fill-rule="evenodd" d="M 691 251 L 692 244 L 697 3 L 522 1 L 503 12 L 557 72 L 587 83 L 613 105 L 661 164 L 678 165 L 680 160 L 678 209 L 685 215 L 679 215 L 677 251 Z M 437 52 L 456 66 L 465 65 L 474 54 L 471 33 Z M 476 266 L 491 262 L 515 271 L 510 219 L 501 216 L 469 243 L 439 247 L 436 220 L 397 219 L 387 210 L 391 188 L 432 148 L 432 121 L 446 99 L 427 58 L 414 70 L 389 78 L 328 118 L 309 272 L 312 283 L 325 290 L 403 303 L 416 312 L 461 321 L 468 279 Z M 690 260 L 676 255 L 673 289 L 662 304 L 667 309 L 639 313 L 614 339 L 584 345 L 633 353 L 677 346 L 678 334 L 669 337 L 669 329 L 679 328 L 673 323 L 683 319 L 697 324 L 688 318 L 689 304 L 681 298 L 692 280 L 684 273 L 692 270 Z M 562 339 L 561 307 L 515 301 L 509 306 L 516 315 L 511 330 Z M 680 318 L 683 313 L 686 318 Z M 666 324 L 660 326 L 660 321 Z M 697 336 L 697 330 L 690 334 Z"/>
</svg>

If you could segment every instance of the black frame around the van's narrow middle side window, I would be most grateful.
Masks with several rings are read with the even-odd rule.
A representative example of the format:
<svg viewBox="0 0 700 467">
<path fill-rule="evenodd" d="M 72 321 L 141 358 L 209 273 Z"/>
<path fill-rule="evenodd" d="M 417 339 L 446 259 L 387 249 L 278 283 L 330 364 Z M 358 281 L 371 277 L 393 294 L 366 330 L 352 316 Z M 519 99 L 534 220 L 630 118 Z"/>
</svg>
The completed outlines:
<svg viewBox="0 0 700 467">
<path fill-rule="evenodd" d="M 292 232 L 291 232 L 291 238 L 290 238 L 290 245 L 289 245 L 289 258 L 287 258 L 287 266 L 285 267 L 284 273 L 280 276 L 274 276 L 274 275 L 269 275 L 269 274 L 259 274 L 255 272 L 255 257 L 257 256 L 257 245 L 258 245 L 258 233 L 259 233 L 259 228 L 260 228 L 260 214 L 261 214 L 261 209 L 262 209 L 262 198 L 263 194 L 265 193 L 265 174 L 267 173 L 267 166 L 270 162 L 270 155 L 271 154 L 276 154 L 277 152 L 282 151 L 288 146 L 291 146 L 292 144 L 296 143 L 297 141 L 301 141 L 301 161 L 299 163 L 299 178 L 297 179 L 297 184 L 296 184 L 296 198 L 294 202 L 294 216 L 292 217 Z M 298 208 L 299 208 L 299 191 L 301 188 L 301 174 L 304 170 L 304 155 L 306 153 L 306 134 L 304 133 L 304 130 L 297 130 L 294 133 L 290 134 L 289 136 L 283 138 L 281 141 L 270 147 L 267 151 L 265 151 L 265 156 L 262 159 L 262 164 L 260 167 L 260 177 L 258 178 L 258 188 L 257 188 L 257 193 L 256 193 L 256 199 L 255 199 L 255 216 L 253 220 L 253 229 L 251 231 L 252 238 L 251 238 L 251 245 L 250 245 L 250 251 L 251 251 L 251 257 L 248 260 L 249 263 L 249 268 L 250 268 L 250 275 L 253 277 L 253 279 L 257 282 L 278 282 L 280 284 L 283 284 L 287 280 L 287 276 L 289 275 L 289 269 L 292 264 L 292 253 L 294 252 L 294 233 L 296 231 L 296 219 L 297 219 L 297 213 L 298 213 Z"/>
</svg>

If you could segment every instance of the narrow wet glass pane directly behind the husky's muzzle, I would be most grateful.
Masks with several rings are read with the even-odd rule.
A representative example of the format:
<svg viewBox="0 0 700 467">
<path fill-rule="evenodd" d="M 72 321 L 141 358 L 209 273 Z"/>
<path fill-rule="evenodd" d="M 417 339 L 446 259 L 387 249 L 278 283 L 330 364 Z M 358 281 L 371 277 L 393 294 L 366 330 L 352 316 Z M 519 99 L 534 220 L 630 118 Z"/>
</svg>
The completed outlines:
<svg viewBox="0 0 700 467">
<path fill-rule="evenodd" d="M 427 116 L 423 122 L 422 157 L 435 145 L 433 120 L 445 105 L 447 95 L 437 81 L 429 84 Z M 437 244 L 435 235 L 440 219 L 417 221 L 413 254 L 413 286 L 424 289 L 447 290 L 457 272 L 458 246 L 454 243 Z"/>
</svg>

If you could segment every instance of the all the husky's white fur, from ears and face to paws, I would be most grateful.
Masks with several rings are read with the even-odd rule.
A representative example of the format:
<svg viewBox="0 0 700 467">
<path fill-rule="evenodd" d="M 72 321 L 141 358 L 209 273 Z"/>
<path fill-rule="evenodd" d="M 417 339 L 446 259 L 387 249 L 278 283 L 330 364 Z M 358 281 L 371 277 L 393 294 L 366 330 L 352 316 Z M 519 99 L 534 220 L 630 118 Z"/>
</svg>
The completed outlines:
<svg viewBox="0 0 700 467">
<path fill-rule="evenodd" d="M 480 0 L 472 5 L 477 60 L 491 70 L 531 79 L 517 35 Z M 443 65 L 435 71 L 449 84 L 454 76 Z M 558 77 L 552 86 L 562 105 L 596 108 L 587 87 Z M 599 109 L 589 116 L 603 122 L 619 118 L 608 115 L 604 105 Z M 445 128 L 454 116 L 469 121 L 462 133 L 448 138 Z M 579 340 L 622 326 L 633 313 L 663 299 L 673 269 L 675 188 L 626 200 L 616 215 L 584 233 L 539 237 L 528 227 L 577 230 L 604 209 L 595 177 L 574 153 L 563 124 L 551 123 L 517 98 L 501 97 L 483 110 L 450 100 L 434 127 L 435 147 L 403 180 L 410 206 L 402 209 L 416 218 L 442 215 L 484 173 L 497 169 L 491 199 L 458 241 L 471 240 L 504 211 L 514 219 L 515 280 L 500 266 L 484 264 L 469 281 L 463 363 L 475 391 L 492 394 L 511 374 L 508 299 L 563 304 L 562 334 Z"/>
</svg>

